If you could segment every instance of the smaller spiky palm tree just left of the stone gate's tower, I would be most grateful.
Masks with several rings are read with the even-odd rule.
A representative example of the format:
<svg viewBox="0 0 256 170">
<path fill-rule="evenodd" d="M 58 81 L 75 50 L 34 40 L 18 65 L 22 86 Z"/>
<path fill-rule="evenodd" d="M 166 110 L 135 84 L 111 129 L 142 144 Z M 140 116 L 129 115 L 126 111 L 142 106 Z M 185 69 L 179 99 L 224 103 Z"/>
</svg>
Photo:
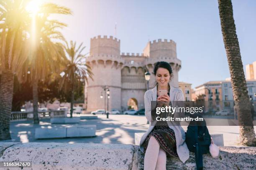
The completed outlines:
<svg viewBox="0 0 256 170">
<path fill-rule="evenodd" d="M 64 70 L 60 82 L 60 89 L 64 88 L 64 92 L 71 91 L 70 117 L 73 114 L 74 90 L 84 85 L 85 82 L 88 83 L 87 77 L 89 76 L 92 79 L 93 75 L 91 67 L 85 62 L 85 55 L 82 54 L 85 47 L 81 47 L 82 43 L 76 49 L 76 42 L 73 43 L 73 41 L 70 41 L 70 47 L 67 44 L 65 48 L 67 57 L 63 60 Z"/>
</svg>

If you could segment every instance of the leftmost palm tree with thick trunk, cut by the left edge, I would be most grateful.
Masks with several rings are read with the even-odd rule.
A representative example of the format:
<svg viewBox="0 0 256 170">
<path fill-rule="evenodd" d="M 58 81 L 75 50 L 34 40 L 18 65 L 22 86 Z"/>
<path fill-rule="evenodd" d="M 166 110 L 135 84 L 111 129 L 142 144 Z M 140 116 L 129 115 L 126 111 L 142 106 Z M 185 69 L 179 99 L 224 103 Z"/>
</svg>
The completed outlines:
<svg viewBox="0 0 256 170">
<path fill-rule="evenodd" d="M 0 1 L 0 140 L 10 139 L 14 74 L 20 75 L 27 56 L 27 3 L 28 0 Z"/>
</svg>

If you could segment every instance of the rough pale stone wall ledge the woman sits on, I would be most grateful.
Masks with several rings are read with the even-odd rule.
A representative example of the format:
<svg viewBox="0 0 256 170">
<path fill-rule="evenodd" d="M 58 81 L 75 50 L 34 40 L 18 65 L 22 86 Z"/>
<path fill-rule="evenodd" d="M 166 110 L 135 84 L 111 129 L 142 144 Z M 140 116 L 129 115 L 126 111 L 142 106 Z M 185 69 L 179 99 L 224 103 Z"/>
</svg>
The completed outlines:
<svg viewBox="0 0 256 170">
<path fill-rule="evenodd" d="M 219 148 L 217 158 L 203 155 L 204 169 L 251 170 L 256 167 L 256 147 Z M 23 170 L 143 170 L 143 158 L 137 145 L 0 142 L 0 161 L 31 161 L 32 168 Z M 195 154 L 190 153 L 185 163 L 168 158 L 166 169 L 195 170 Z"/>
</svg>

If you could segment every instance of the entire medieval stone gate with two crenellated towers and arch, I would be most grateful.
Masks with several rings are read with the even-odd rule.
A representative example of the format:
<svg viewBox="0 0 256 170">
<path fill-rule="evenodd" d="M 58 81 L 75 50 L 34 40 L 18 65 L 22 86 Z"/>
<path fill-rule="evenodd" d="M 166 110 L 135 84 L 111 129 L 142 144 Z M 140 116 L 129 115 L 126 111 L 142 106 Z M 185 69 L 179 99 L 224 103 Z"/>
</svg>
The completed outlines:
<svg viewBox="0 0 256 170">
<path fill-rule="evenodd" d="M 143 54 L 120 53 L 120 40 L 112 36 L 91 38 L 90 56 L 87 64 L 92 68 L 93 80 L 89 78 L 86 91 L 87 112 L 104 109 L 108 102 L 109 110 L 127 110 L 144 107 L 146 92 L 145 72 L 151 73 L 149 88 L 155 86 L 154 64 L 158 61 L 169 62 L 174 77 L 170 84 L 178 87 L 178 72 L 181 60 L 177 58 L 176 43 L 172 40 L 148 42 Z M 102 87 L 110 90 L 109 100 Z M 103 96 L 101 99 L 100 96 Z"/>
</svg>

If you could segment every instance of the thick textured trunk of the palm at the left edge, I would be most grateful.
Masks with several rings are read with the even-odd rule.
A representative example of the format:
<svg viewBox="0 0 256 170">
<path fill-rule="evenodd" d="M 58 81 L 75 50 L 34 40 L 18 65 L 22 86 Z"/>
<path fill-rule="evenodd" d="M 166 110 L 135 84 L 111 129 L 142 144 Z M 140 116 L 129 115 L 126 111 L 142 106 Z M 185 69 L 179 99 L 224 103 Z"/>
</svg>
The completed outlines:
<svg viewBox="0 0 256 170">
<path fill-rule="evenodd" d="M 14 75 L 11 70 L 3 70 L 0 81 L 0 140 L 10 137 L 10 115 L 13 100 Z"/>
</svg>

